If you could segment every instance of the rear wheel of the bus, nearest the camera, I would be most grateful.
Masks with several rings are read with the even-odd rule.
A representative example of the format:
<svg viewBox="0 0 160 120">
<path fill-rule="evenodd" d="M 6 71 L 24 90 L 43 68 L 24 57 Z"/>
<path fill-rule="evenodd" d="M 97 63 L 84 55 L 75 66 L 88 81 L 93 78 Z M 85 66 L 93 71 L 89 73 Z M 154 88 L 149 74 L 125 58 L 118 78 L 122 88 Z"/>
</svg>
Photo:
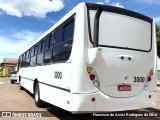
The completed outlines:
<svg viewBox="0 0 160 120">
<path fill-rule="evenodd" d="M 40 99 L 40 92 L 39 92 L 39 84 L 37 83 L 34 88 L 34 100 L 37 107 L 43 106 L 43 101 Z"/>
</svg>

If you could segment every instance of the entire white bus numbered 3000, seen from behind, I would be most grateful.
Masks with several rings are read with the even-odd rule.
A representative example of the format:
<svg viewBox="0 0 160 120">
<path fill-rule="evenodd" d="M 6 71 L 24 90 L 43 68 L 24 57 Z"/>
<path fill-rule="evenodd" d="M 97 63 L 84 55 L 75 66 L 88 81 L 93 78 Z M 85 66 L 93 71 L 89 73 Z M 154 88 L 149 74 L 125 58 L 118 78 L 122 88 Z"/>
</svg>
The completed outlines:
<svg viewBox="0 0 160 120">
<path fill-rule="evenodd" d="M 153 107 L 156 51 L 153 19 L 80 3 L 20 55 L 20 89 L 71 112 Z"/>
</svg>

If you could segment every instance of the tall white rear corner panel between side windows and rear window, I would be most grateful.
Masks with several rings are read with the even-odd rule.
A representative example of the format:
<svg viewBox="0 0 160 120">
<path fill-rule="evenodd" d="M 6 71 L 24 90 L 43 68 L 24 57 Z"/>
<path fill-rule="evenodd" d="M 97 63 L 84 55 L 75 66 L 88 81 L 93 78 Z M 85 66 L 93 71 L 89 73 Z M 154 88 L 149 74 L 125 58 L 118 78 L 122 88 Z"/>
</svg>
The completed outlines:
<svg viewBox="0 0 160 120">
<path fill-rule="evenodd" d="M 81 4 L 77 8 L 74 42 L 72 48 L 72 93 L 97 91 L 87 73 L 86 56 L 88 50 L 87 8 Z"/>
</svg>

